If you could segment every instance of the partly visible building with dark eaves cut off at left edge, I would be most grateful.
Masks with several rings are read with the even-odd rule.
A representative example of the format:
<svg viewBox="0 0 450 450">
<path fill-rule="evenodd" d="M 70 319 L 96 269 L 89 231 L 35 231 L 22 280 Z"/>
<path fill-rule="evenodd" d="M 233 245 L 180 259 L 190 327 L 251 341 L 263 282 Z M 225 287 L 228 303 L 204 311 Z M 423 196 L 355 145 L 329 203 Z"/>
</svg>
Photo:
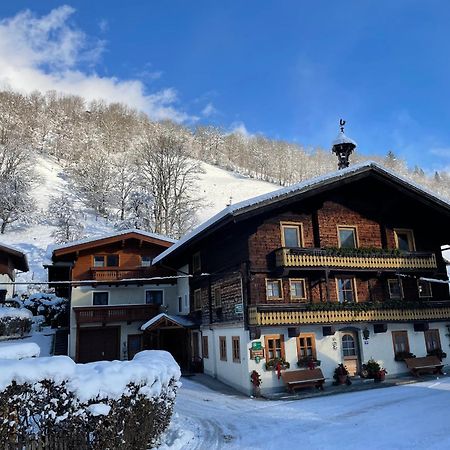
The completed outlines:
<svg viewBox="0 0 450 450">
<path fill-rule="evenodd" d="M 16 280 L 18 270 L 28 272 L 26 255 L 14 247 L 0 243 L 0 302 L 14 295 L 12 283 Z"/>
</svg>

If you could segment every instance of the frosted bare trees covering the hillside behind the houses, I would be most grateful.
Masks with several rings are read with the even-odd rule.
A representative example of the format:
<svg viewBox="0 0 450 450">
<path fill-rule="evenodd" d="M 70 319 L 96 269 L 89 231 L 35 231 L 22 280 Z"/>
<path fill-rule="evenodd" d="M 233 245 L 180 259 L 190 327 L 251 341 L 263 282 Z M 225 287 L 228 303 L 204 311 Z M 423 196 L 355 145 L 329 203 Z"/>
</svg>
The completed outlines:
<svg viewBox="0 0 450 450">
<path fill-rule="evenodd" d="M 35 158 L 50 155 L 73 182 L 78 201 L 118 228 L 137 227 L 173 237 L 196 223 L 203 199 L 197 190 L 201 161 L 245 176 L 290 185 L 336 170 L 329 150 L 256 135 L 230 133 L 213 126 L 189 128 L 153 122 L 123 104 L 55 92 L 22 95 L 0 92 L 0 231 L 32 216 L 30 196 L 37 177 Z M 389 152 L 374 159 L 450 197 L 445 172 L 427 176 L 409 170 Z M 59 241 L 78 237 L 82 229 L 73 200 L 54 198 L 49 215 Z M 78 223 L 78 225 L 76 225 Z"/>
</svg>

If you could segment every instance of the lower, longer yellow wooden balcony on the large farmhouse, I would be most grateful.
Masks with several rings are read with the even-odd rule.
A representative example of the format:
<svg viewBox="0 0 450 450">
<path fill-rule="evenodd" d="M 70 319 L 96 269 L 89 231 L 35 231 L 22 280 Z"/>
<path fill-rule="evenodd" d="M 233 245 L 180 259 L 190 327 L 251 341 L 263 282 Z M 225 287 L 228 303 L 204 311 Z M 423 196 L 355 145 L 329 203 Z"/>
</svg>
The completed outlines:
<svg viewBox="0 0 450 450">
<path fill-rule="evenodd" d="M 437 302 L 436 302 L 437 303 Z M 355 322 L 414 322 L 419 320 L 450 320 L 450 302 L 440 302 L 420 308 L 374 308 L 368 310 L 342 309 L 308 311 L 251 306 L 248 309 L 249 324 L 252 326 L 338 324 Z"/>
</svg>

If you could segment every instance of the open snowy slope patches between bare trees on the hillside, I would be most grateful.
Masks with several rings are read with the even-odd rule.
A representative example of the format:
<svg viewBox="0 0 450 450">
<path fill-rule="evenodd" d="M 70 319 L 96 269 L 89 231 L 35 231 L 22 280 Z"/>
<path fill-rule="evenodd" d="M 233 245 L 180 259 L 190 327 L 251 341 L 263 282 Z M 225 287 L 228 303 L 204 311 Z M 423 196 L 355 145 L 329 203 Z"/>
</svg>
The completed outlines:
<svg viewBox="0 0 450 450">
<path fill-rule="evenodd" d="M 204 198 L 205 206 L 199 214 L 203 222 L 223 209 L 230 198 L 233 203 L 273 191 L 279 186 L 263 181 L 252 180 L 241 175 L 202 163 L 204 173 L 200 174 L 198 195 Z M 33 190 L 37 202 L 37 212 L 30 225 L 11 226 L 0 236 L 0 242 L 13 245 L 24 251 L 29 260 L 30 272 L 22 274 L 22 281 L 45 281 L 46 271 L 43 264 L 47 261 L 47 248 L 54 243 L 51 234 L 55 230 L 45 218 L 51 196 L 73 195 L 70 180 L 58 162 L 49 157 L 39 157 L 36 171 L 40 180 Z M 113 222 L 96 217 L 92 211 L 84 208 L 81 202 L 77 207 L 83 213 L 84 235 L 100 236 L 114 230 Z"/>
</svg>

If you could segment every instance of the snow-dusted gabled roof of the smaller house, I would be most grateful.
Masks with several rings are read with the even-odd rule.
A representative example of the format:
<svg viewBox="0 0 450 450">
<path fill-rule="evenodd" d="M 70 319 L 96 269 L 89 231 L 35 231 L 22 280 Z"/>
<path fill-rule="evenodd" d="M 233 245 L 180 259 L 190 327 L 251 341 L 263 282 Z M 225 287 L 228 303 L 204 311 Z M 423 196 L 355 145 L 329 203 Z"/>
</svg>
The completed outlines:
<svg viewBox="0 0 450 450">
<path fill-rule="evenodd" d="M 142 239 L 147 242 L 154 242 L 163 247 L 170 247 L 175 242 L 177 242 L 176 239 L 172 239 L 161 234 L 150 233 L 144 230 L 128 229 L 104 234 L 102 236 L 80 239 L 78 241 L 68 242 L 67 244 L 51 246 L 49 250 L 51 251 L 51 254 L 53 256 L 56 256 L 130 238 Z"/>
</svg>

